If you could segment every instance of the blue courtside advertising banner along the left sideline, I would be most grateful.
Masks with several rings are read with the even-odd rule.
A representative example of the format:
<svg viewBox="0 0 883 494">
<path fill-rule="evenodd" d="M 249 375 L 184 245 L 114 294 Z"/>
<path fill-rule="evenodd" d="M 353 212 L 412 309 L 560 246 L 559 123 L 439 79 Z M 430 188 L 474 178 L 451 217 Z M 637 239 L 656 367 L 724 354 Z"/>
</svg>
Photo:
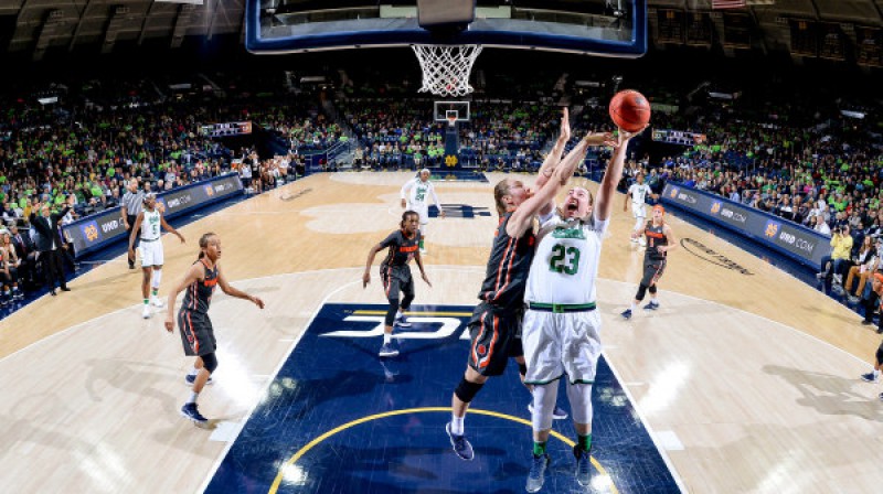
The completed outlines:
<svg viewBox="0 0 883 494">
<path fill-rule="evenodd" d="M 196 207 L 242 193 L 237 173 L 216 176 L 157 195 L 157 203 L 166 208 L 163 216 L 172 218 Z M 64 226 L 64 233 L 74 244 L 74 253 L 82 256 L 119 240 L 126 236 L 119 207 L 77 219 Z"/>
</svg>

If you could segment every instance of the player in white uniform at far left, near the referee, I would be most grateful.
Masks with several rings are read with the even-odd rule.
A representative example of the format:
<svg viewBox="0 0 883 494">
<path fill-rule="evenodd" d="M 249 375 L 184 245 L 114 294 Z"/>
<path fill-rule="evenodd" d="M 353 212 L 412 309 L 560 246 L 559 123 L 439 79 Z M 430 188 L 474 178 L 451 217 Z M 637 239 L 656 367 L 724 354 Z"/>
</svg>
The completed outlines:
<svg viewBox="0 0 883 494">
<path fill-rule="evenodd" d="M 153 305 L 162 307 L 162 300 L 157 297 L 159 292 L 159 282 L 162 279 L 162 264 L 164 261 L 162 240 L 160 239 L 162 230 L 160 228 L 166 228 L 166 230 L 177 235 L 178 238 L 181 239 L 181 244 L 184 243 L 184 237 L 179 234 L 177 229 L 172 228 L 171 225 L 166 223 L 166 218 L 162 217 L 162 213 L 159 207 L 157 207 L 156 194 L 146 194 L 143 204 L 145 206 L 138 214 L 138 218 L 135 219 L 135 226 L 131 228 L 131 234 L 129 235 L 129 259 L 135 259 L 135 236 L 140 232 L 141 243 L 138 246 L 138 250 L 141 254 L 141 273 L 143 275 L 141 277 L 141 294 L 145 300 L 145 309 L 141 312 L 141 316 L 148 319 L 150 318 L 151 299 Z M 152 296 L 150 294 L 151 290 Z"/>
</svg>

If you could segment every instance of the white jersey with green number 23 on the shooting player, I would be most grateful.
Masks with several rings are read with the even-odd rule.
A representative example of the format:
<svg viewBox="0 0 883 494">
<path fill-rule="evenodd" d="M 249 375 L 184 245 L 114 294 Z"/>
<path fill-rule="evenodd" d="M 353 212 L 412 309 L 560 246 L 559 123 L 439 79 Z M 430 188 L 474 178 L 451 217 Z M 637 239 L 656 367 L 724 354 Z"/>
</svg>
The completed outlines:
<svg viewBox="0 0 883 494">
<path fill-rule="evenodd" d="M 595 302 L 600 246 L 608 222 L 541 218 L 536 253 L 528 275 L 526 302 Z"/>
</svg>

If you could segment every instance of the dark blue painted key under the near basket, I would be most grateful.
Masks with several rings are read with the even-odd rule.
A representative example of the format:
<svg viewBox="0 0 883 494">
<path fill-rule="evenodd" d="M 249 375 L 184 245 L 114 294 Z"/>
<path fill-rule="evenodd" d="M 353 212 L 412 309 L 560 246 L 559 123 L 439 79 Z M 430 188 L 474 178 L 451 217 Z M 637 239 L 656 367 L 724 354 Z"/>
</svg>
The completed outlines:
<svg viewBox="0 0 883 494">
<path fill-rule="evenodd" d="M 385 305 L 327 304 L 275 376 L 208 486 L 208 493 L 265 493 L 280 471 L 285 493 L 519 493 L 524 491 L 530 427 L 470 414 L 476 449 L 459 460 L 445 433 L 448 411 L 412 411 L 370 419 L 305 447 L 340 426 L 377 414 L 449 407 L 466 367 L 462 340 L 472 307 L 413 308 L 413 327 L 396 327 L 401 354 L 379 358 Z M 351 332 L 351 333 L 340 333 Z M 363 337 L 368 336 L 368 337 Z M 564 390 L 560 405 L 565 409 Z M 491 379 L 472 406 L 530 420 L 530 395 L 518 367 Z M 593 402 L 593 457 L 620 493 L 679 492 L 635 409 L 602 359 Z M 574 438 L 570 420 L 555 430 Z M 285 466 L 298 452 L 302 455 Z M 571 448 L 552 439 L 542 492 L 581 491 Z M 593 472 L 598 475 L 598 472 Z M 607 490 L 592 491 L 607 492 Z"/>
</svg>

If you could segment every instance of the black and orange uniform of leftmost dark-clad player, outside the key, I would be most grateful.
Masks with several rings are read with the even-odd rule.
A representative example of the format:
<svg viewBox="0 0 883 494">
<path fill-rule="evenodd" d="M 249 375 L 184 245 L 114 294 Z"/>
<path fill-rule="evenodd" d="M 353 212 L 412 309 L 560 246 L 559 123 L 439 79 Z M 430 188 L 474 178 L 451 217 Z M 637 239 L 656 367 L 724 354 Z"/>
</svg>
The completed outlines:
<svg viewBox="0 0 883 494">
<path fill-rule="evenodd" d="M 187 288 L 181 309 L 178 311 L 178 327 L 181 329 L 184 354 L 190 356 L 214 353 L 217 346 L 212 321 L 209 319 L 209 304 L 217 286 L 217 266 L 209 268 L 203 259 L 196 262 L 202 264 L 205 279 L 194 281 Z"/>
</svg>

